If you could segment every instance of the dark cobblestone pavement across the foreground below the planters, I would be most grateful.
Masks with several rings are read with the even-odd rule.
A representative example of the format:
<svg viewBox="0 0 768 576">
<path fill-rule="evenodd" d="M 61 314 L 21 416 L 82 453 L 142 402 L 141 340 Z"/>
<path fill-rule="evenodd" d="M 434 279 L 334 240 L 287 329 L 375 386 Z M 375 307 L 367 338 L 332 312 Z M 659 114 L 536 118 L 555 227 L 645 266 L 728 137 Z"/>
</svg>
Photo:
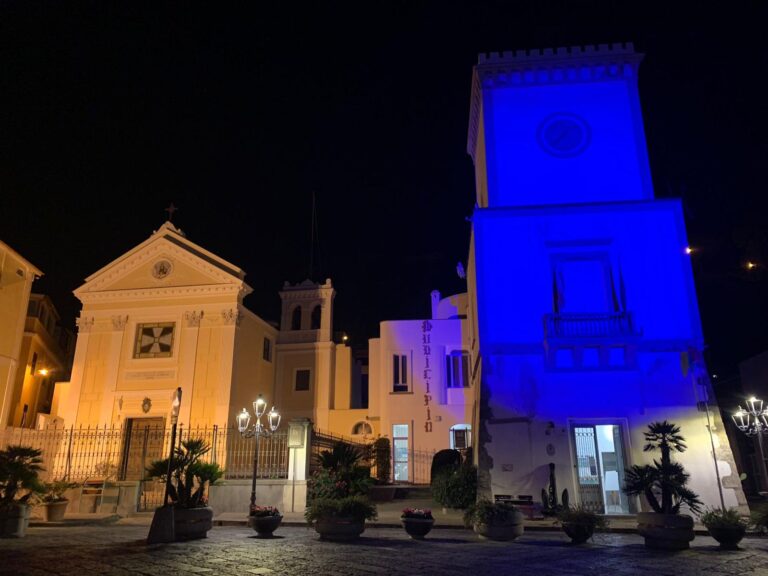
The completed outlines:
<svg viewBox="0 0 768 576">
<path fill-rule="evenodd" d="M 557 532 L 500 543 L 457 529 L 433 530 L 417 542 L 399 529 L 368 528 L 351 544 L 321 542 L 308 528 L 285 526 L 271 540 L 232 526 L 178 544 L 148 546 L 146 534 L 146 526 L 121 524 L 30 528 L 26 538 L 0 541 L 0 574 L 768 575 L 768 539 L 762 538 L 721 552 L 711 538 L 698 536 L 691 550 L 663 553 L 646 550 L 633 534 L 600 534 L 585 546 L 572 546 Z"/>
</svg>

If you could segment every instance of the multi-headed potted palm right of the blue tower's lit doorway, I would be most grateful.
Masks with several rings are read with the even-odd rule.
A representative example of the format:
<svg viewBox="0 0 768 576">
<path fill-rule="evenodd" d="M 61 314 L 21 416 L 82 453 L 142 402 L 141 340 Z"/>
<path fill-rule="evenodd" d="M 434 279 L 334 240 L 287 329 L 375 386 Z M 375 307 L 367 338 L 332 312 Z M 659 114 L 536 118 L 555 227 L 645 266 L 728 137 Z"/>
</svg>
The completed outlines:
<svg viewBox="0 0 768 576">
<path fill-rule="evenodd" d="M 667 422 L 653 422 L 645 432 L 645 452 L 658 451 L 659 460 L 653 465 L 632 466 L 626 470 L 624 492 L 644 496 L 653 512 L 637 515 L 637 531 L 645 538 L 648 548 L 685 550 L 694 538 L 693 518 L 681 514 L 683 505 L 698 512 L 701 500 L 687 487 L 689 474 L 683 466 L 672 462 L 672 452 L 686 450 L 680 427 Z"/>
</svg>

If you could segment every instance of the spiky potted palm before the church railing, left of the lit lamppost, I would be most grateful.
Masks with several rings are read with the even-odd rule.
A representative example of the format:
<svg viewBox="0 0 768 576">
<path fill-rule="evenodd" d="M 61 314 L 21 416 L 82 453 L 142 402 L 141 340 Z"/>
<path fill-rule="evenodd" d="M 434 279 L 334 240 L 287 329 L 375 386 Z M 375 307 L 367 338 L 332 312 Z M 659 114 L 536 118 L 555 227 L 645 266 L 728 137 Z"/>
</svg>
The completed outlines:
<svg viewBox="0 0 768 576">
<path fill-rule="evenodd" d="M 173 506 L 176 540 L 205 538 L 213 527 L 213 509 L 208 507 L 206 490 L 224 471 L 216 463 L 202 461 L 209 451 L 210 446 L 202 439 L 186 440 L 174 450 L 168 495 Z M 168 458 L 153 461 L 147 472 L 166 481 Z"/>
</svg>

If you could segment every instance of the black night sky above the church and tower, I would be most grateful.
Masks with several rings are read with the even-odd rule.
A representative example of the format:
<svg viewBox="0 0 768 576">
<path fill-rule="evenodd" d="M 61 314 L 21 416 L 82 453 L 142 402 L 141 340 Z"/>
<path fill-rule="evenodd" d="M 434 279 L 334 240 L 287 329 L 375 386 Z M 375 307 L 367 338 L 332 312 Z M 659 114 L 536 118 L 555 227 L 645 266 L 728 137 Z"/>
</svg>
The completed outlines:
<svg viewBox="0 0 768 576">
<path fill-rule="evenodd" d="M 464 290 L 477 53 L 633 41 L 656 195 L 683 198 L 700 248 L 710 365 L 768 349 L 768 274 L 742 266 L 768 266 L 764 2 L 117 4 L 0 3 L 0 238 L 65 324 L 170 202 L 277 319 L 282 282 L 309 274 L 314 192 L 313 276 L 365 346 Z"/>
</svg>

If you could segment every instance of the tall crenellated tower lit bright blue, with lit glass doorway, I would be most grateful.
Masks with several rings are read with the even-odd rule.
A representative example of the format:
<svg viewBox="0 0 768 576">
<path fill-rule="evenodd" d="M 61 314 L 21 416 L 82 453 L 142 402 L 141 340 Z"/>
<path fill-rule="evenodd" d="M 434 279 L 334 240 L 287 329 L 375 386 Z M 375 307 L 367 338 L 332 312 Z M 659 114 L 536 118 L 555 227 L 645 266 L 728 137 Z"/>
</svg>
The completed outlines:
<svg viewBox="0 0 768 576">
<path fill-rule="evenodd" d="M 619 44 L 481 55 L 474 69 L 468 280 L 487 496 L 538 500 L 554 462 L 572 502 L 633 512 L 623 470 L 649 461 L 643 431 L 666 419 L 688 440 L 692 488 L 744 504 L 701 361 L 681 205 L 653 194 L 641 59 Z"/>
</svg>

